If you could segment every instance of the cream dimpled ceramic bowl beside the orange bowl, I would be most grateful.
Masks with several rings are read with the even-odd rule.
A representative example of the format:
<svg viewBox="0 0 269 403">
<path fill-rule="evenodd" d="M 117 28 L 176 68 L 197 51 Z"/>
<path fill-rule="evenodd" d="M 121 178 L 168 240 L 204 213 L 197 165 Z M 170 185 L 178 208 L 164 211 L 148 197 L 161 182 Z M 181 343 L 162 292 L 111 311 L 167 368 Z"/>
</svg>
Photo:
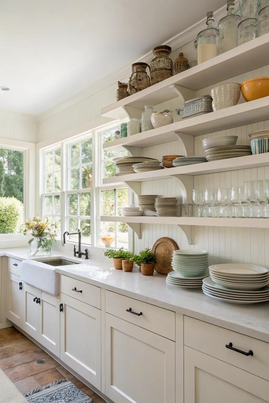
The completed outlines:
<svg viewBox="0 0 269 403">
<path fill-rule="evenodd" d="M 213 110 L 229 108 L 238 103 L 241 94 L 240 84 L 224 83 L 211 89 Z"/>
</svg>

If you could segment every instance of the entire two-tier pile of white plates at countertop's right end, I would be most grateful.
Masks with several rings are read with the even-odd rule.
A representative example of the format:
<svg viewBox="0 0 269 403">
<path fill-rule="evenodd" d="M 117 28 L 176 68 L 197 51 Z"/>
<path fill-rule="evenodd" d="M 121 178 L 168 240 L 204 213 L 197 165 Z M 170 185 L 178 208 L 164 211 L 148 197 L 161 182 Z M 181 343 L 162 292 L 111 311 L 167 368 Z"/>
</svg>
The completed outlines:
<svg viewBox="0 0 269 403">
<path fill-rule="evenodd" d="M 269 270 L 252 264 L 209 266 L 210 277 L 203 280 L 203 292 L 230 303 L 269 301 Z"/>
</svg>

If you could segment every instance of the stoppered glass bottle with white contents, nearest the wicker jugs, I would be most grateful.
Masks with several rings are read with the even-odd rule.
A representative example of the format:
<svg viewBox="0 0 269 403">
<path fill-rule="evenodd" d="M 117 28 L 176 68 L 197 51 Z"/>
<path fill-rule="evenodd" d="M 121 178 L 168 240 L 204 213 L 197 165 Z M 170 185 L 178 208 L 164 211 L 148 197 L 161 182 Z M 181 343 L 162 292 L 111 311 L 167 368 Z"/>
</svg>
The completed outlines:
<svg viewBox="0 0 269 403">
<path fill-rule="evenodd" d="M 209 11 L 206 14 L 207 28 L 199 32 L 197 35 L 197 64 L 206 62 L 213 57 L 217 56 L 217 38 L 219 36 L 219 30 L 213 28 L 213 11 Z"/>
</svg>

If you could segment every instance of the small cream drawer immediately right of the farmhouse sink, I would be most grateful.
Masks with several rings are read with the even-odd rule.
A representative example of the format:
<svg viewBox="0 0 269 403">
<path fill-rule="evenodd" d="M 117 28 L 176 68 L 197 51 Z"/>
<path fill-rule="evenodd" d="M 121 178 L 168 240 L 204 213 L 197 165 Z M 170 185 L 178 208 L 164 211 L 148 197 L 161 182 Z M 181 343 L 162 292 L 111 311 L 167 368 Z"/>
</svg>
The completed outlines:
<svg viewBox="0 0 269 403">
<path fill-rule="evenodd" d="M 74 289 L 77 289 L 77 291 L 74 291 Z M 99 287 L 61 274 L 60 292 L 101 309 L 101 289 Z"/>
</svg>

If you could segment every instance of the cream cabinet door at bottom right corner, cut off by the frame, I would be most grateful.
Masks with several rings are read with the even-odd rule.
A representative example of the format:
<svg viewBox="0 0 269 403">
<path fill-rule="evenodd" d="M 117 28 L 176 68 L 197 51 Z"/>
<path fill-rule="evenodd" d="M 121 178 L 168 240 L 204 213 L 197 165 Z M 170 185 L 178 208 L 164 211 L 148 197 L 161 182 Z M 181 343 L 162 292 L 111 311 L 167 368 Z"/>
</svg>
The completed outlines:
<svg viewBox="0 0 269 403">
<path fill-rule="evenodd" d="M 184 347 L 184 403 L 265 403 L 269 382 Z"/>
</svg>

